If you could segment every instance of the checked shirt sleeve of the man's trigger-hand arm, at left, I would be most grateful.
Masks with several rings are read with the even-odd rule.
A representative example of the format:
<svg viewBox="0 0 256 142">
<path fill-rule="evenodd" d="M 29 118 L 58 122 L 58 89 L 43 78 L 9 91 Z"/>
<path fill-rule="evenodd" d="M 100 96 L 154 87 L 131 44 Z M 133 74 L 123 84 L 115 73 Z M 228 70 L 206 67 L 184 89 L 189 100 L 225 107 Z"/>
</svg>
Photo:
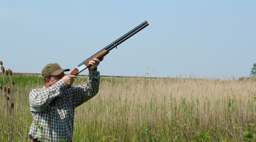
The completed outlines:
<svg viewBox="0 0 256 142">
<path fill-rule="evenodd" d="M 29 93 L 30 111 L 42 112 L 56 97 L 60 97 L 67 88 L 64 81 L 59 80 L 51 87 L 34 89 Z"/>
</svg>

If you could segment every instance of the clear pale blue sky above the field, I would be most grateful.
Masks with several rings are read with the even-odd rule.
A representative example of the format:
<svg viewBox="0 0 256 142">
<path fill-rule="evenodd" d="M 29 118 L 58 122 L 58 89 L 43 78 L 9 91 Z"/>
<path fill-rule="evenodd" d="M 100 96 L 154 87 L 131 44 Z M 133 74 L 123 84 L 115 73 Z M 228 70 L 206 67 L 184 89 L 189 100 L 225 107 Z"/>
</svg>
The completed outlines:
<svg viewBox="0 0 256 142">
<path fill-rule="evenodd" d="M 145 20 L 105 56 L 101 75 L 239 78 L 256 63 L 255 0 L 0 3 L 0 60 L 13 72 L 73 70 Z"/>
</svg>

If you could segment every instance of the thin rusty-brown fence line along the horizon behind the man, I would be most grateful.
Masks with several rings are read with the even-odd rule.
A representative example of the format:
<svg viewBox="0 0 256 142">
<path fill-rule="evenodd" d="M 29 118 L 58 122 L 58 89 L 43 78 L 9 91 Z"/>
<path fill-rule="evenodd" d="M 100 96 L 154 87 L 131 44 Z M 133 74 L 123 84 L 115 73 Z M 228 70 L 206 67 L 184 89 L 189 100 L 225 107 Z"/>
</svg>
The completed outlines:
<svg viewBox="0 0 256 142">
<path fill-rule="evenodd" d="M 20 74 L 20 75 L 42 75 L 41 73 L 13 73 L 15 74 Z M 88 77 L 88 75 L 81 75 L 83 77 Z M 143 79 L 175 79 L 175 78 L 159 78 L 159 77 L 139 77 L 139 76 L 108 76 L 108 75 L 100 75 L 102 78 L 143 78 Z M 179 78 L 179 79 L 186 79 L 186 78 Z"/>
</svg>

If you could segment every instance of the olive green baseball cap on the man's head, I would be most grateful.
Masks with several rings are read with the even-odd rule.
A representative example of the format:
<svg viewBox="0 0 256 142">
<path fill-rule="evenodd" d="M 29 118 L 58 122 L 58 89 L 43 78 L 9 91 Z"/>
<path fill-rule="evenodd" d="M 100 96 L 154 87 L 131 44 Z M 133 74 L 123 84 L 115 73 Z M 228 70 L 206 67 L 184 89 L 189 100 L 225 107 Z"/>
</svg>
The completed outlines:
<svg viewBox="0 0 256 142">
<path fill-rule="evenodd" d="M 49 63 L 42 70 L 42 76 L 44 80 L 50 75 L 59 75 L 63 71 L 70 71 L 70 69 L 62 69 L 57 63 Z"/>
</svg>

